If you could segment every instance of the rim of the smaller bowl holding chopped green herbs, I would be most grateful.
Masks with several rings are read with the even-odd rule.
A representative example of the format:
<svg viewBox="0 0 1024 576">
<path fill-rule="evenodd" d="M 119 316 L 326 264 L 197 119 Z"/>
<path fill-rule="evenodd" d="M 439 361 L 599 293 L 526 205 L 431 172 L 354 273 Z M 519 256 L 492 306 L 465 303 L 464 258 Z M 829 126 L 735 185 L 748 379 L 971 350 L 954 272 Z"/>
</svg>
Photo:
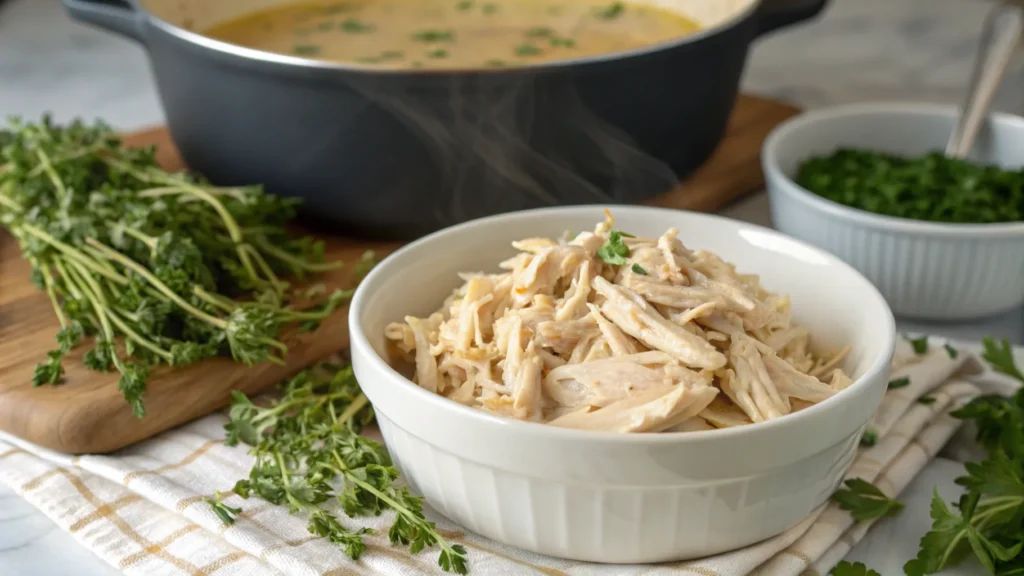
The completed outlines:
<svg viewBox="0 0 1024 576">
<path fill-rule="evenodd" d="M 779 191 L 820 212 L 825 212 L 838 218 L 852 220 L 865 228 L 885 230 L 889 232 L 924 234 L 929 236 L 953 238 L 967 236 L 1024 236 L 1024 221 L 993 223 L 930 222 L 926 220 L 914 220 L 910 218 L 877 214 L 860 208 L 840 204 L 839 202 L 818 196 L 817 194 L 814 194 L 806 188 L 798 184 L 793 177 L 782 170 L 778 163 L 777 153 L 779 150 L 785 148 L 786 138 L 792 137 L 795 132 L 806 129 L 808 126 L 816 122 L 883 115 L 924 116 L 946 119 L 955 118 L 957 110 L 957 107 L 952 105 L 912 101 L 878 101 L 827 107 L 804 112 L 787 119 L 772 129 L 761 147 L 761 165 L 766 173 L 766 176 L 769 176 L 767 178 L 769 183 L 772 177 L 774 177 L 784 184 L 787 184 L 783 187 L 768 186 L 767 189 L 769 196 L 773 190 Z M 1024 117 L 1005 112 L 993 112 L 989 115 L 988 122 L 1018 129 L 1021 131 L 1022 135 L 1024 135 Z"/>
</svg>

